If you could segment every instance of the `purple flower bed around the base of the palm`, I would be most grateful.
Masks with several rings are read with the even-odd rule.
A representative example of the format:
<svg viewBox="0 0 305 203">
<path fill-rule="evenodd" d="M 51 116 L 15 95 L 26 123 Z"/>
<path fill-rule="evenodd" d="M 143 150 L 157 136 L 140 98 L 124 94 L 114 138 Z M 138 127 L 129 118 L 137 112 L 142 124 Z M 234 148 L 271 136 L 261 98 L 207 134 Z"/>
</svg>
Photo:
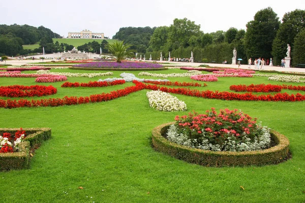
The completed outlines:
<svg viewBox="0 0 305 203">
<path fill-rule="evenodd" d="M 73 65 L 74 67 L 99 67 L 99 68 L 114 68 L 114 69 L 156 69 L 158 67 L 163 67 L 163 65 L 156 63 L 144 63 L 144 62 L 92 62 Z"/>
</svg>

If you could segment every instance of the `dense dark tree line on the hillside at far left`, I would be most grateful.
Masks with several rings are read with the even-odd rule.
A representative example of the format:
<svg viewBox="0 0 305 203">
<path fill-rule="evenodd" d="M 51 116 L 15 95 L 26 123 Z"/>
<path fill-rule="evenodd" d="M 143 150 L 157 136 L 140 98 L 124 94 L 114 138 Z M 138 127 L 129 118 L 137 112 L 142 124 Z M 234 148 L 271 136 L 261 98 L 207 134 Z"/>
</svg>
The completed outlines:
<svg viewBox="0 0 305 203">
<path fill-rule="evenodd" d="M 42 43 L 52 43 L 52 38 L 61 38 L 49 28 L 44 26 L 33 27 L 30 25 L 0 25 L 0 54 L 16 55 L 26 54 L 28 51 L 23 50 L 22 45 Z"/>
</svg>

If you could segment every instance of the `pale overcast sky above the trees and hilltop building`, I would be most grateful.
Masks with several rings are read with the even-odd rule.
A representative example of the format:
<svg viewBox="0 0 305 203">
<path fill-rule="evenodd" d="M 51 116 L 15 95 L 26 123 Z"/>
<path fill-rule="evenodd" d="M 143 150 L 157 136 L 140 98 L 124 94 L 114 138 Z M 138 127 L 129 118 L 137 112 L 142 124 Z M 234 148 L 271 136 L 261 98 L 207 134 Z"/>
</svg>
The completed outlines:
<svg viewBox="0 0 305 203">
<path fill-rule="evenodd" d="M 271 7 L 280 20 L 287 12 L 305 10 L 304 0 L 10 0 L 1 4 L 0 24 L 43 25 L 68 36 L 69 31 L 104 32 L 110 39 L 120 27 L 170 26 L 175 18 L 188 18 L 204 33 L 245 29 L 261 9 Z"/>
</svg>

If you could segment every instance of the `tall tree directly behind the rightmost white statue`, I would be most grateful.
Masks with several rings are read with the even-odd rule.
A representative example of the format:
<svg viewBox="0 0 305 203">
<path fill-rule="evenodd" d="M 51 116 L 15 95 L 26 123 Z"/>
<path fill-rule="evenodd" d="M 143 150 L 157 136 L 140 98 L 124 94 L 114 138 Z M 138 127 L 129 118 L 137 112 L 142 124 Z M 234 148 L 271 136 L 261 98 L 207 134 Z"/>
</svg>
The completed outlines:
<svg viewBox="0 0 305 203">
<path fill-rule="evenodd" d="M 295 36 L 305 28 L 305 10 L 296 9 L 285 13 L 282 21 L 272 45 L 274 64 L 280 64 L 281 59 L 286 56 L 287 44 L 290 44 L 293 50 Z"/>
</svg>

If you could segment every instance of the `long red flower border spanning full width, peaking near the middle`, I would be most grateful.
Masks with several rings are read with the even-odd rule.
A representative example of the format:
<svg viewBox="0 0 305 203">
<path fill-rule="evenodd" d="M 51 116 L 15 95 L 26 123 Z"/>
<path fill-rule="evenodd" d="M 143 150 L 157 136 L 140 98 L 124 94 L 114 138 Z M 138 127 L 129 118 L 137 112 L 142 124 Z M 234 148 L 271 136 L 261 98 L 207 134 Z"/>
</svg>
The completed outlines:
<svg viewBox="0 0 305 203">
<path fill-rule="evenodd" d="M 27 99 L 20 99 L 18 101 L 11 99 L 0 99 L 0 108 L 19 108 L 19 107 L 57 107 L 64 105 L 78 105 L 78 104 L 88 104 L 88 103 L 96 103 L 101 101 L 112 100 L 121 96 L 126 96 L 132 92 L 137 92 L 143 89 L 150 90 L 161 90 L 164 92 L 174 93 L 174 94 L 182 94 L 187 96 L 196 96 L 202 98 L 214 98 L 214 99 L 222 99 L 222 100 L 245 100 L 245 101 L 304 101 L 305 95 L 300 93 L 296 93 L 289 95 L 288 93 L 277 93 L 275 95 L 267 94 L 267 95 L 256 95 L 252 93 L 234 93 L 234 92 L 219 92 L 219 91 L 199 91 L 197 89 L 189 89 L 189 88 L 168 88 L 168 87 L 160 87 L 157 85 L 145 85 L 138 81 L 133 81 L 135 86 L 126 87 L 124 89 L 119 89 L 116 91 L 111 91 L 110 93 L 102 93 L 102 94 L 94 94 L 85 96 L 85 97 L 77 97 L 77 96 L 65 96 L 64 98 L 49 98 L 49 99 L 40 99 L 29 101 Z"/>
</svg>

